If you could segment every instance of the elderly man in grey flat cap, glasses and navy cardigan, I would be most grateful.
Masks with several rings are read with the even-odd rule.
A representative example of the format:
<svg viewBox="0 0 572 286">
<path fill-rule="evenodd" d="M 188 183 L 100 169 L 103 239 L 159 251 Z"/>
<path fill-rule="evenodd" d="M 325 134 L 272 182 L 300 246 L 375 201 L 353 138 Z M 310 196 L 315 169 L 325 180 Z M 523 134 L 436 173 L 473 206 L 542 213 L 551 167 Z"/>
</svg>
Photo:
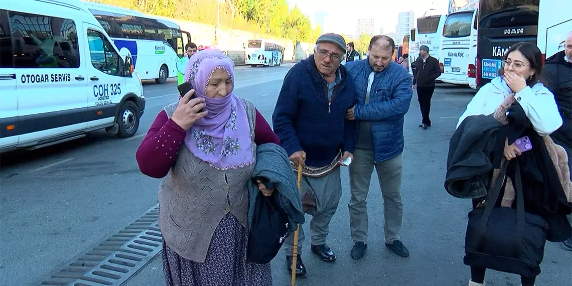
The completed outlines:
<svg viewBox="0 0 572 286">
<path fill-rule="evenodd" d="M 355 122 L 345 119 L 345 110 L 356 104 L 349 73 L 340 65 L 345 49 L 341 35 L 321 35 L 314 54 L 284 78 L 272 116 L 274 132 L 293 169 L 303 167 L 300 192 L 304 212 L 312 215 L 311 251 L 327 262 L 336 259 L 326 237 L 341 197 L 340 165 L 351 164 L 355 140 Z M 299 244 L 294 252 L 296 237 Z M 297 276 L 306 273 L 300 257 L 304 239 L 300 225 L 298 236 L 289 236 L 284 243 L 288 271 L 293 272 L 295 264 Z"/>
</svg>

